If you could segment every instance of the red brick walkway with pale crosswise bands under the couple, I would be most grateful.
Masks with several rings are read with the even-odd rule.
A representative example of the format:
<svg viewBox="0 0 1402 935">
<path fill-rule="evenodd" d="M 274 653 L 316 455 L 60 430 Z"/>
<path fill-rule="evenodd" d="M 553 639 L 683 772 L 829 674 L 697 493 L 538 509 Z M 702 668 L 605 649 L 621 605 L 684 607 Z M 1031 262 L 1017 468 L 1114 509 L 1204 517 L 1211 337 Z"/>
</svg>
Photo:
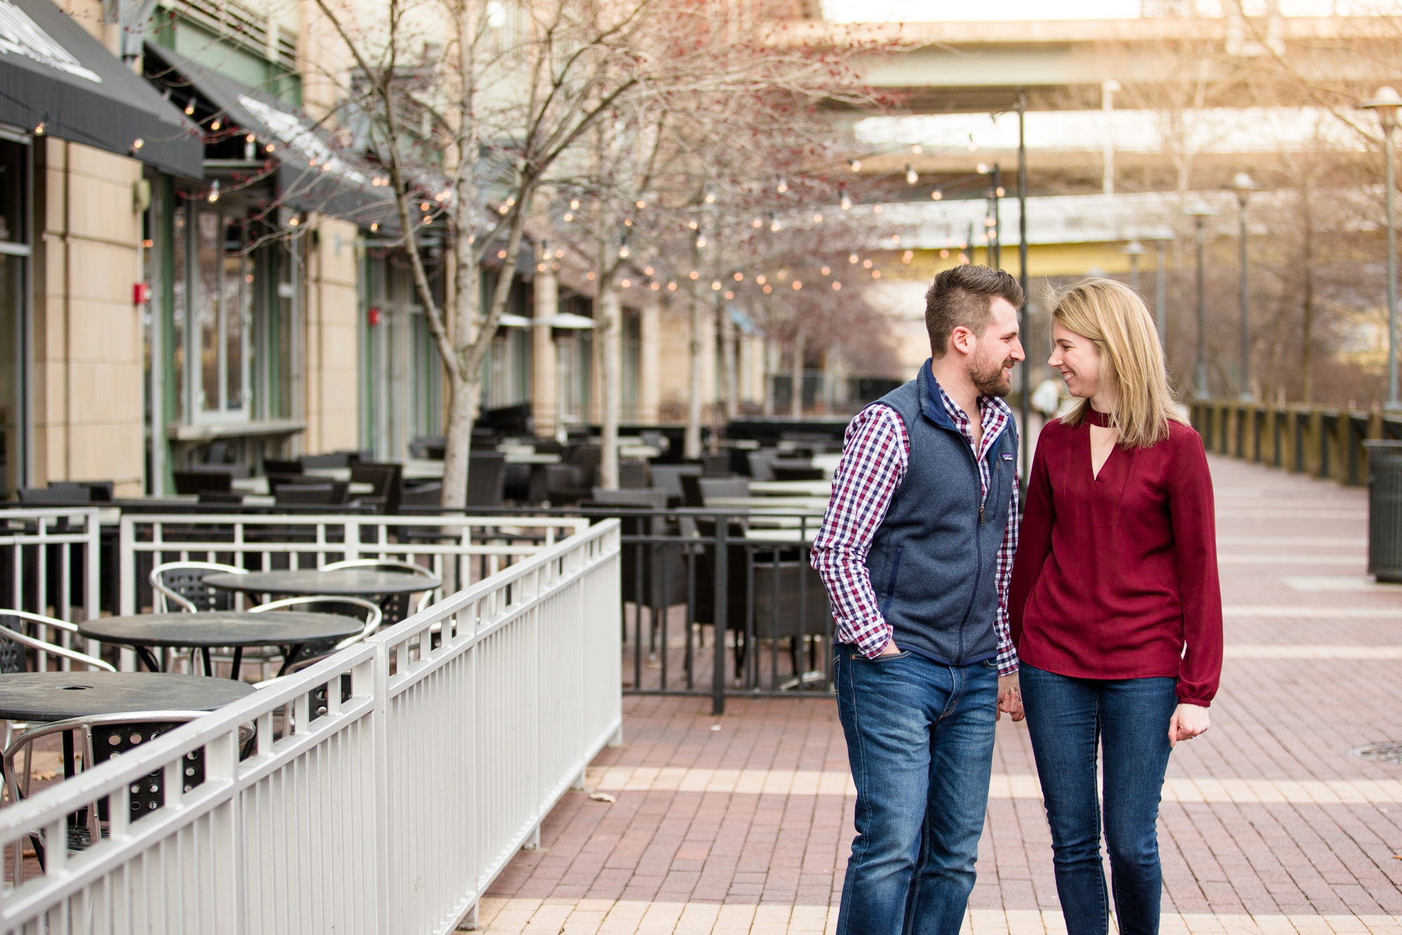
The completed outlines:
<svg viewBox="0 0 1402 935">
<path fill-rule="evenodd" d="M 1367 503 L 1213 460 L 1228 659 L 1161 809 L 1165 932 L 1402 934 L 1402 587 L 1364 575 Z M 822 932 L 852 831 L 830 699 L 629 697 L 627 746 L 481 907 L 488 932 Z M 1023 726 L 998 726 L 966 931 L 1064 931 Z"/>
</svg>

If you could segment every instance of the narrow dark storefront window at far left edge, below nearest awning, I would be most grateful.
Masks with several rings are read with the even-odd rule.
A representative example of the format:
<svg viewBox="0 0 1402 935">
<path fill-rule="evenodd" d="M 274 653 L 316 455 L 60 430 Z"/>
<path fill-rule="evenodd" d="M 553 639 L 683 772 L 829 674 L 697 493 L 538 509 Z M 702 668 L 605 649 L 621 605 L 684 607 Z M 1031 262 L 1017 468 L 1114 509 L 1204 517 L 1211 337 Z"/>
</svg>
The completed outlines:
<svg viewBox="0 0 1402 935">
<path fill-rule="evenodd" d="M 0 130 L 0 498 L 29 477 L 29 146 Z"/>
</svg>

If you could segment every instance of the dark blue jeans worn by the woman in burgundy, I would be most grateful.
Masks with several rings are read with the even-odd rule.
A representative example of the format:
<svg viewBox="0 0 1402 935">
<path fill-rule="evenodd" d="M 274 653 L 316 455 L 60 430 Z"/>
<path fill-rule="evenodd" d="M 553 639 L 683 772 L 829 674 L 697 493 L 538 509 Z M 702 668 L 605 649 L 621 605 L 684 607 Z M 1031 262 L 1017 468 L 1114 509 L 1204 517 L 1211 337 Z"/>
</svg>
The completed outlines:
<svg viewBox="0 0 1402 935">
<path fill-rule="evenodd" d="M 1105 844 L 1120 935 L 1158 932 L 1164 873 L 1158 802 L 1176 678 L 1071 678 L 1022 663 L 1019 685 L 1052 824 L 1056 892 L 1068 935 L 1105 935 L 1096 746 L 1105 760 Z"/>
</svg>

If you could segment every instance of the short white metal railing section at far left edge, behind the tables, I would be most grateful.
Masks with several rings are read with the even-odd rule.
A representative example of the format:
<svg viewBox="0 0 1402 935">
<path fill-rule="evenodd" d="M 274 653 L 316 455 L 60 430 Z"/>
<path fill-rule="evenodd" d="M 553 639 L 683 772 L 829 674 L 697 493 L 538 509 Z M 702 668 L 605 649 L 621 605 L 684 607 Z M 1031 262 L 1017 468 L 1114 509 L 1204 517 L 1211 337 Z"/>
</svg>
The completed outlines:
<svg viewBox="0 0 1402 935">
<path fill-rule="evenodd" d="M 0 608 L 27 610 L 70 622 L 98 615 L 101 527 L 97 509 L 0 509 Z M 79 593 L 76 603 L 74 592 Z M 60 642 L 70 645 L 67 632 Z M 100 643 L 88 641 L 86 652 L 97 655 L 98 650 Z M 69 662 L 60 662 L 66 670 Z M 41 652 L 39 664 L 48 666 L 48 653 Z"/>
</svg>

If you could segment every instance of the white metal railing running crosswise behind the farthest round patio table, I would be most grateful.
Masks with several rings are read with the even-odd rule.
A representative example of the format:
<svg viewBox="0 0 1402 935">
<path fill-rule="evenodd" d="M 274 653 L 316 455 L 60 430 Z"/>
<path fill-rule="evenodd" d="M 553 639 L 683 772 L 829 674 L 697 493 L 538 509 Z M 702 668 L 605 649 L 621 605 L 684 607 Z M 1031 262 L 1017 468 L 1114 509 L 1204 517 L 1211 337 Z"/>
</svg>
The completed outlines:
<svg viewBox="0 0 1402 935">
<path fill-rule="evenodd" d="M 174 561 L 264 571 L 320 568 L 352 558 L 400 559 L 423 565 L 443 582 L 433 594 L 437 599 L 587 526 L 586 519 L 561 516 L 122 516 L 118 613 L 142 611 L 137 594 L 146 573 L 154 564 Z M 151 558 L 143 561 L 146 555 Z"/>
</svg>

